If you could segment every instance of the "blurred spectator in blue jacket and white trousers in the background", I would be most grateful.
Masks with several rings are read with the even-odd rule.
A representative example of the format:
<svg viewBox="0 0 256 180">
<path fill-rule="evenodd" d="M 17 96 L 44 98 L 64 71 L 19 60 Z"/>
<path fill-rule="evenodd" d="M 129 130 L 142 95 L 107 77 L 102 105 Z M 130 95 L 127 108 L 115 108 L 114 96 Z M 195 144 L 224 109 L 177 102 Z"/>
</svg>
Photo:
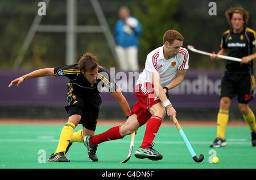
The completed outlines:
<svg viewBox="0 0 256 180">
<path fill-rule="evenodd" d="M 116 52 L 121 70 L 139 70 L 138 43 L 142 26 L 138 19 L 130 16 L 128 7 L 119 9 L 120 19 L 114 27 Z"/>
</svg>

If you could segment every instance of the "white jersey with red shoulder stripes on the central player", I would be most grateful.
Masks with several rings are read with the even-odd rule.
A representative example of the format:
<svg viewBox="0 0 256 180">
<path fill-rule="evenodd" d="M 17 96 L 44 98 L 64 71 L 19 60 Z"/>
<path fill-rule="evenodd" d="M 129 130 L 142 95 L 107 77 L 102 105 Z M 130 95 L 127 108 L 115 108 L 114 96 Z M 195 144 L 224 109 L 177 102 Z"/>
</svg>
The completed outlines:
<svg viewBox="0 0 256 180">
<path fill-rule="evenodd" d="M 175 57 L 168 60 L 164 58 L 163 47 L 156 48 L 147 55 L 145 68 L 139 78 L 137 84 L 151 82 L 150 72 L 159 73 L 160 85 L 167 86 L 177 75 L 177 70 L 188 69 L 188 51 L 180 48 L 179 53 Z"/>
</svg>

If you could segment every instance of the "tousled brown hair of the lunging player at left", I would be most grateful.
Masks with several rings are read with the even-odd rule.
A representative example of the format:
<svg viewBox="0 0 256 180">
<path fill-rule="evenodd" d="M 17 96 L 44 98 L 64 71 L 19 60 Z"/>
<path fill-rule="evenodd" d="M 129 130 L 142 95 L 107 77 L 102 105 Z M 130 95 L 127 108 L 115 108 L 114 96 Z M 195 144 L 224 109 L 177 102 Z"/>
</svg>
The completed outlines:
<svg viewBox="0 0 256 180">
<path fill-rule="evenodd" d="M 79 68 L 84 72 L 92 71 L 98 67 L 97 57 L 89 52 L 84 53 L 79 60 Z"/>
</svg>

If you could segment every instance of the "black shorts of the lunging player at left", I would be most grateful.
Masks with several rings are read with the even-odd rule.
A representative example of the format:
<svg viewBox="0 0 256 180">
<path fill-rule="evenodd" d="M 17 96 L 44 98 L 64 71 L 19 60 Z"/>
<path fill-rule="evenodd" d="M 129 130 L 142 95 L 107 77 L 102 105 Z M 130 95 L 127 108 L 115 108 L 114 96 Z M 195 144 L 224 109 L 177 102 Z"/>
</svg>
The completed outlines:
<svg viewBox="0 0 256 180">
<path fill-rule="evenodd" d="M 88 98 L 81 98 L 77 95 L 68 97 L 68 105 L 65 106 L 68 116 L 80 115 L 81 120 L 79 124 L 91 131 L 95 131 L 98 114 L 100 112 L 100 104 L 96 105 Z"/>
</svg>

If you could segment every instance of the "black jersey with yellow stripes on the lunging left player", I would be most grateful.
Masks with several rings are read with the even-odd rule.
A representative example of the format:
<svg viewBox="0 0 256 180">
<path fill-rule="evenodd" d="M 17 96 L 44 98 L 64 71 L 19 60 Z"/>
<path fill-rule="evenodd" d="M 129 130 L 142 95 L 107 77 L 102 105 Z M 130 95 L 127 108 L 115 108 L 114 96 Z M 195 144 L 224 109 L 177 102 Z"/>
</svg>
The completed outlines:
<svg viewBox="0 0 256 180">
<path fill-rule="evenodd" d="M 90 83 L 81 73 L 78 64 L 64 65 L 54 68 L 54 76 L 61 77 L 65 76 L 69 78 L 69 86 L 72 86 L 73 90 L 82 95 L 95 95 L 99 94 L 102 87 L 105 87 L 110 92 L 117 90 L 117 85 L 106 68 L 98 67 L 98 76 L 96 83 Z"/>
</svg>

